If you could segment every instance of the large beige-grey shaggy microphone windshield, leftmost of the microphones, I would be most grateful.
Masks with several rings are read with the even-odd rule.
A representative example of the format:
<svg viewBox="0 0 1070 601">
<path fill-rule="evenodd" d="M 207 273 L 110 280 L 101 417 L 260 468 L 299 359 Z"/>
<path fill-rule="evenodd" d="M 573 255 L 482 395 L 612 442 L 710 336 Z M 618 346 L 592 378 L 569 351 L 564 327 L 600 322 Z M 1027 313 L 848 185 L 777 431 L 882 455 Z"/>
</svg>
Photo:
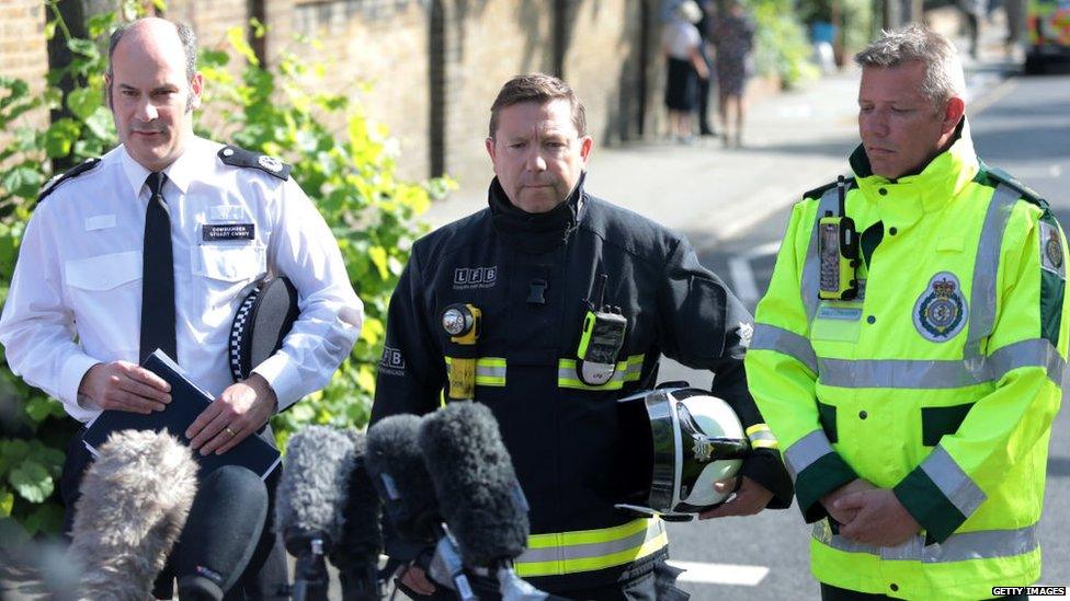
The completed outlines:
<svg viewBox="0 0 1070 601">
<path fill-rule="evenodd" d="M 150 599 L 197 492 L 197 464 L 168 434 L 123 430 L 101 444 L 75 506 L 71 562 L 82 599 Z"/>
</svg>

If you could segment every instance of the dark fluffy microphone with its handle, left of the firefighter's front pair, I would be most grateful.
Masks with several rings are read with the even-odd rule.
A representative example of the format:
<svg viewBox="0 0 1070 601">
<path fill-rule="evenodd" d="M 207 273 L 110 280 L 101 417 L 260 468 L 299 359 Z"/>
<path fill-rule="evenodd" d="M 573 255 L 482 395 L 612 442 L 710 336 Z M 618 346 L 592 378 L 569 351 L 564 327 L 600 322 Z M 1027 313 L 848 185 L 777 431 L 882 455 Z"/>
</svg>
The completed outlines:
<svg viewBox="0 0 1070 601">
<path fill-rule="evenodd" d="M 429 575 L 453 586 L 460 599 L 475 600 L 456 544 L 442 527 L 434 485 L 420 452 L 420 423 L 414 415 L 400 414 L 372 426 L 365 455 L 368 473 L 398 535 L 435 545 L 442 578 L 436 577 L 436 569 Z"/>
</svg>

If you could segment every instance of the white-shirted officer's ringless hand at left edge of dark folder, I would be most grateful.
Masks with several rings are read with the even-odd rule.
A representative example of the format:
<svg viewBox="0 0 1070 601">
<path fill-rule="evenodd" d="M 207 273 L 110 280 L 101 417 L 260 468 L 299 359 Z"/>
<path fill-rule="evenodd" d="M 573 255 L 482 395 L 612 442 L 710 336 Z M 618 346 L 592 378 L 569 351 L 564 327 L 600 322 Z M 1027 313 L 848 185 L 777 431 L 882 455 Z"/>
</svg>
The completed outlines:
<svg viewBox="0 0 1070 601">
<path fill-rule="evenodd" d="M 102 409 L 149 414 L 171 402 L 171 384 L 151 371 L 128 361 L 96 363 L 78 384 L 78 396 L 88 397 Z"/>
</svg>

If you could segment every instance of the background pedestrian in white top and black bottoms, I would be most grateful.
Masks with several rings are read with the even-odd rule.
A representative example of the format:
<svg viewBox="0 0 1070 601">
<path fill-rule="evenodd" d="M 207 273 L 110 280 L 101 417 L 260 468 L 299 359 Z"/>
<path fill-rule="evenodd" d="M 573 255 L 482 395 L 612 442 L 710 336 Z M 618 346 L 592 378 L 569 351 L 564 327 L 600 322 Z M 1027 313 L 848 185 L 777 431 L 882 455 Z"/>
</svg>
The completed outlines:
<svg viewBox="0 0 1070 601">
<path fill-rule="evenodd" d="M 702 36 L 695 26 L 702 19 L 702 9 L 693 0 L 685 0 L 672 15 L 662 31 L 669 135 L 678 142 L 690 142 L 694 139 L 692 122 L 698 104 L 698 80 L 709 77 L 701 50 Z"/>
</svg>

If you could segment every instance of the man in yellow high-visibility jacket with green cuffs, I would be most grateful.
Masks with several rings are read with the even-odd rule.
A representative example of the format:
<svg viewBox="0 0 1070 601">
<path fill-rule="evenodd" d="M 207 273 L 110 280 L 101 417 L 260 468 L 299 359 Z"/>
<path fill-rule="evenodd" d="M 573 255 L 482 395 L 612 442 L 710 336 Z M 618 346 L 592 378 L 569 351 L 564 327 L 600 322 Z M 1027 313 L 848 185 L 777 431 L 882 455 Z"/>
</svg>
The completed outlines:
<svg viewBox="0 0 1070 601">
<path fill-rule="evenodd" d="M 795 207 L 748 384 L 815 525 L 823 599 L 987 599 L 1040 575 L 1067 244 L 975 154 L 947 39 L 911 26 L 855 60 L 855 176 L 842 204 L 831 184 Z M 840 240 L 844 215 L 857 235 Z"/>
</svg>

